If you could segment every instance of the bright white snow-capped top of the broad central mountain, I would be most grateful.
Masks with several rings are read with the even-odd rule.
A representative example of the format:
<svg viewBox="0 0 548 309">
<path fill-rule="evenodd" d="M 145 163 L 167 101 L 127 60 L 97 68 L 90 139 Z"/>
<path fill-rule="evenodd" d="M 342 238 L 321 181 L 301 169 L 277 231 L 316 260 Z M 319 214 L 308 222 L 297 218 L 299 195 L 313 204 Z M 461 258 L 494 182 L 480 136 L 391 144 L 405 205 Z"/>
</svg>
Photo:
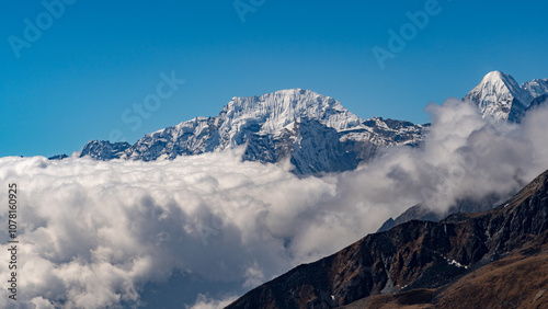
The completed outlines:
<svg viewBox="0 0 548 309">
<path fill-rule="evenodd" d="M 354 127 L 362 119 L 336 100 L 302 89 L 281 90 L 261 96 L 232 98 L 219 115 L 221 130 L 262 124 L 259 134 L 275 134 L 299 118 L 310 118 L 336 130 Z"/>
</svg>

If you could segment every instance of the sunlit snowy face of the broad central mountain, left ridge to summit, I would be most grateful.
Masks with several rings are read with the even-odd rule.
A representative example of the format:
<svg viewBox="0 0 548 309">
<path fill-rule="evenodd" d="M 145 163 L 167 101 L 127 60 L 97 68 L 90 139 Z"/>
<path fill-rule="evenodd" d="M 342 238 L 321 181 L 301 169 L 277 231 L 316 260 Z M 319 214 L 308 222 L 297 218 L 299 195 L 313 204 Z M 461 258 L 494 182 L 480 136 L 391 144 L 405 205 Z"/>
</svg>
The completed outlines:
<svg viewBox="0 0 548 309">
<path fill-rule="evenodd" d="M 300 89 L 282 90 L 261 96 L 233 98 L 215 118 L 197 117 L 148 134 L 137 141 L 128 157 L 156 160 L 161 156 L 173 159 L 178 154 L 220 151 L 246 144 L 252 134 L 281 135 L 286 126 L 300 118 L 317 119 L 335 129 L 361 122 L 331 98 Z"/>
</svg>

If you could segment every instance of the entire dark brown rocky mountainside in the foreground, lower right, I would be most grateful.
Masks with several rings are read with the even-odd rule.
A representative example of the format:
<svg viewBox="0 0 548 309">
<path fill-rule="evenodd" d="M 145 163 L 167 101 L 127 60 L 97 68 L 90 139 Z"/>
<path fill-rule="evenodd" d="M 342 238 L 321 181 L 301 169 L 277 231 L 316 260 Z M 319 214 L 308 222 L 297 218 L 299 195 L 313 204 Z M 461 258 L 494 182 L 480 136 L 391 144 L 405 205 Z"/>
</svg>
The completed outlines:
<svg viewBox="0 0 548 309">
<path fill-rule="evenodd" d="M 368 234 L 227 308 L 547 308 L 547 263 L 548 171 L 492 210 Z"/>
</svg>

